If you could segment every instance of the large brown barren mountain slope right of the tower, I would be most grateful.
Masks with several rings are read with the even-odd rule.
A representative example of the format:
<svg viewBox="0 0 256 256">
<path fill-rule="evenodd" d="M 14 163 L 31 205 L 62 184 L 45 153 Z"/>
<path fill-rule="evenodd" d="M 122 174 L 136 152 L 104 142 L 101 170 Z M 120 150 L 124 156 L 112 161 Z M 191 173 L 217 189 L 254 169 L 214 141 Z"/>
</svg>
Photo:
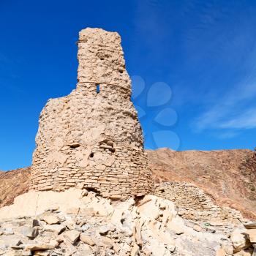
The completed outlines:
<svg viewBox="0 0 256 256">
<path fill-rule="evenodd" d="M 148 150 L 159 181 L 187 181 L 202 188 L 219 205 L 256 218 L 256 157 L 250 150 Z"/>
</svg>

